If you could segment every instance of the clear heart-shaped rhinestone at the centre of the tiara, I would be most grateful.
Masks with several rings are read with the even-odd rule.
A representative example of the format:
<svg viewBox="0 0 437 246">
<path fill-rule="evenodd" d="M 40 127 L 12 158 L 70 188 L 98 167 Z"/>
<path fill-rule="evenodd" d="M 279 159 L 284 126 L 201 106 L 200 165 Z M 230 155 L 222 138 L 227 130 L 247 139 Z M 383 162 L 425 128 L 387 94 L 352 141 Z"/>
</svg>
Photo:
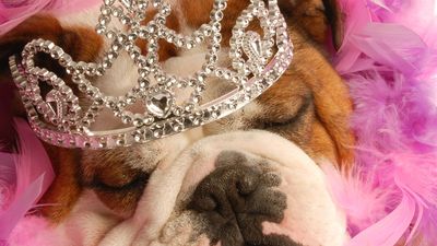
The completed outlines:
<svg viewBox="0 0 437 246">
<path fill-rule="evenodd" d="M 173 95 L 168 91 L 161 91 L 152 95 L 146 103 L 149 113 L 158 118 L 165 118 L 172 113 Z"/>
</svg>

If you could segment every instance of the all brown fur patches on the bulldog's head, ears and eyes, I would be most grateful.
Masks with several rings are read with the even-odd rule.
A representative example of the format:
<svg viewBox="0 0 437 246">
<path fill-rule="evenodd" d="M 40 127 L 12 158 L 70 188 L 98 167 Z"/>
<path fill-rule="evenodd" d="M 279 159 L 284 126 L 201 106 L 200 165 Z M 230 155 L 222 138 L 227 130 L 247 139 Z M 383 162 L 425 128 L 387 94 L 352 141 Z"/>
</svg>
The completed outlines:
<svg viewBox="0 0 437 246">
<path fill-rule="evenodd" d="M 212 0 L 180 2 L 187 24 L 198 27 L 208 22 Z M 247 2 L 229 0 L 222 23 L 224 44 L 229 40 L 231 27 Z M 329 23 L 335 23 L 334 31 L 339 31 L 340 17 L 335 12 L 336 7 L 332 4 L 333 1 L 326 0 L 323 2 L 329 3 L 329 8 L 324 7 L 327 12 L 323 12 L 323 8 L 320 7 L 321 0 L 296 2 L 291 4 L 285 0 L 281 1 L 295 45 L 293 65 L 285 75 L 258 99 L 265 112 L 258 116 L 256 121 L 247 124 L 252 128 L 279 132 L 296 142 L 312 157 L 324 156 L 347 165 L 353 160 L 349 147 L 354 143 L 347 127 L 351 102 L 344 83 L 316 45 L 326 42 Z M 169 16 L 167 25 L 175 31 L 180 30 L 176 13 Z M 257 30 L 257 24 L 251 28 Z M 335 33 L 334 36 L 341 35 Z M 36 37 L 55 42 L 75 60 L 92 61 L 102 48 L 101 37 L 92 30 L 62 28 L 51 16 L 34 16 L 0 38 L 2 74 L 7 72 L 8 57 L 19 54 L 27 42 Z M 86 45 L 83 45 L 84 43 Z M 139 45 L 145 49 L 145 42 Z M 160 45 L 161 60 L 177 56 L 173 45 L 165 42 Z M 54 66 L 45 59 L 42 62 L 48 67 Z M 58 72 L 62 73 L 61 70 Z M 135 153 L 134 149 L 132 150 L 132 153 Z M 153 169 L 152 167 L 145 172 L 130 167 L 131 165 L 127 165 L 128 157 L 119 150 L 94 152 L 86 156 L 82 156 L 82 151 L 56 147 L 47 147 L 47 151 L 58 176 L 43 202 L 59 204 L 45 210 L 55 221 L 60 221 L 68 214 L 84 187 L 94 189 L 108 208 L 129 215 L 146 184 L 147 174 Z M 133 155 L 138 157 L 133 161 L 147 161 L 141 160 L 141 155 Z"/>
</svg>

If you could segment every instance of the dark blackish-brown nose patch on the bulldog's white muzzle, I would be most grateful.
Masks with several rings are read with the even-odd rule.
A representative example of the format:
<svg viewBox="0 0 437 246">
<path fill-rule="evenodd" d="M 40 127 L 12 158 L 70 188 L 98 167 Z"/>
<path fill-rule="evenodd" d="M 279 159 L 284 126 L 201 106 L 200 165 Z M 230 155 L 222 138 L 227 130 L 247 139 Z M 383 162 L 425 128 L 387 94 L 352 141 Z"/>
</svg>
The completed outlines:
<svg viewBox="0 0 437 246">
<path fill-rule="evenodd" d="M 267 162 L 251 162 L 243 153 L 222 152 L 216 168 L 196 188 L 190 209 L 209 225 L 212 243 L 223 246 L 298 245 L 283 235 L 264 235 L 262 223 L 284 219 L 286 196 L 277 189 L 281 178 Z"/>
</svg>

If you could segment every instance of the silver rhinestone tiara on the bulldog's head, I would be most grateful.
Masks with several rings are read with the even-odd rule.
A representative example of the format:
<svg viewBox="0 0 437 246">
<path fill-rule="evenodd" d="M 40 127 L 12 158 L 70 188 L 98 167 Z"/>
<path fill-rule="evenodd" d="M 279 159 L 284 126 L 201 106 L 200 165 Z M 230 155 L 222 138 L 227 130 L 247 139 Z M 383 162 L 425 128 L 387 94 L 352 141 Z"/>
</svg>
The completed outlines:
<svg viewBox="0 0 437 246">
<path fill-rule="evenodd" d="M 293 45 L 287 26 L 276 0 L 250 0 L 232 30 L 228 68 L 217 65 L 221 50 L 221 21 L 227 0 L 215 0 L 211 21 L 202 24 L 191 35 L 181 35 L 165 25 L 170 4 L 162 0 L 104 0 L 96 32 L 110 40 L 110 48 L 98 62 L 73 61 L 52 42 L 35 39 L 28 43 L 22 60 L 10 58 L 14 81 L 27 110 L 28 120 L 40 139 L 64 148 L 110 149 L 144 143 L 223 118 L 241 108 L 274 82 L 288 68 Z M 155 8 L 152 21 L 144 24 L 146 10 Z M 123 31 L 111 28 L 111 20 L 127 26 Z M 247 31 L 259 20 L 263 34 Z M 138 39 L 147 43 L 146 55 L 135 45 Z M 192 49 L 208 45 L 205 62 L 200 71 L 188 78 L 166 73 L 158 62 L 158 40 L 178 48 Z M 123 96 L 105 95 L 90 80 L 105 74 L 120 52 L 129 54 L 138 67 L 138 83 Z M 54 72 L 35 66 L 35 55 L 48 54 L 71 75 L 73 87 Z M 235 89 L 203 102 L 206 79 L 227 81 Z M 156 81 L 152 84 L 151 81 Z M 39 84 L 51 87 L 42 95 Z M 177 91 L 192 90 L 189 98 L 177 103 Z M 83 94 L 83 95 L 82 95 Z M 83 106 L 83 97 L 91 105 Z M 143 112 L 133 113 L 129 106 L 141 103 Z M 122 122 L 119 129 L 93 130 L 102 110 L 110 110 Z"/>
</svg>

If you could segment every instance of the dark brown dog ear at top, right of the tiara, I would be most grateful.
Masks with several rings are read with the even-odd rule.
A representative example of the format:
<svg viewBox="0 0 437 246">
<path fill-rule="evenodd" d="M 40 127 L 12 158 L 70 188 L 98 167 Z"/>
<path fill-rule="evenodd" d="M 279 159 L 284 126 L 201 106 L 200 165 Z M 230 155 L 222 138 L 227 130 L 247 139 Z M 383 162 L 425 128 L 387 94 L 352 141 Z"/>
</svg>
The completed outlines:
<svg viewBox="0 0 437 246">
<path fill-rule="evenodd" d="M 343 21 L 338 0 L 279 0 L 280 9 L 317 43 L 332 35 L 336 49 L 343 40 Z"/>
</svg>

